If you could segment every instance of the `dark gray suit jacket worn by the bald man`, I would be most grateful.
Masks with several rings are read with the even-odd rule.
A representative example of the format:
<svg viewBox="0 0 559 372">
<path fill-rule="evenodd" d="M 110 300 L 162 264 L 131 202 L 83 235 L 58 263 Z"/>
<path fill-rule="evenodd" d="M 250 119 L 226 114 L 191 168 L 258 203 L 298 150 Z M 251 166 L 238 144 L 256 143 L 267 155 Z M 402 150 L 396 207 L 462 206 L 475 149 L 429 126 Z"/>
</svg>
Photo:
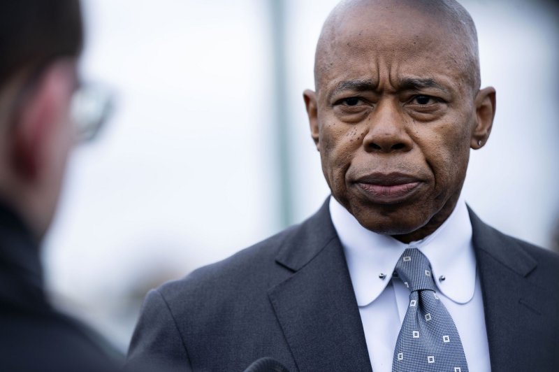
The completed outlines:
<svg viewBox="0 0 559 372">
<path fill-rule="evenodd" d="M 559 371 L 559 256 L 470 218 L 493 371 Z M 129 364 L 243 371 L 265 356 L 291 371 L 371 371 L 328 203 L 303 224 L 152 290 Z"/>
</svg>

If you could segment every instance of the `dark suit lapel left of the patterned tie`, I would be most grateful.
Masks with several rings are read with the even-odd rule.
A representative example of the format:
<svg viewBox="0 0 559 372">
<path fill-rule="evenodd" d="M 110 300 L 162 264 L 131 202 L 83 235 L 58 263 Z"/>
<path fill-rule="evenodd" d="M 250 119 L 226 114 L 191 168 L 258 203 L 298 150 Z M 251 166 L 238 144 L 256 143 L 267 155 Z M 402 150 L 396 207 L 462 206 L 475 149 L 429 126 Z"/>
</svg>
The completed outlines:
<svg viewBox="0 0 559 372">
<path fill-rule="evenodd" d="M 328 201 L 277 263 L 293 276 L 268 292 L 300 371 L 371 371 L 363 325 Z"/>
</svg>

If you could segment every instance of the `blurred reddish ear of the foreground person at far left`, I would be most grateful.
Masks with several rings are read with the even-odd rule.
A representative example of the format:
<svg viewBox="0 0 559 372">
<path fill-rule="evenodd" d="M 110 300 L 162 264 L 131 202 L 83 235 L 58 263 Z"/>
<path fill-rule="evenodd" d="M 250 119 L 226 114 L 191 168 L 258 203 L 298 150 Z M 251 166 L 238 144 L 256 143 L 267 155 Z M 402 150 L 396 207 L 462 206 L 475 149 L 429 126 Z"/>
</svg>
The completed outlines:
<svg viewBox="0 0 559 372">
<path fill-rule="evenodd" d="M 19 108 L 11 134 L 11 164 L 25 180 L 36 180 L 48 161 L 55 131 L 68 112 L 73 81 L 71 66 L 55 62 Z"/>
</svg>

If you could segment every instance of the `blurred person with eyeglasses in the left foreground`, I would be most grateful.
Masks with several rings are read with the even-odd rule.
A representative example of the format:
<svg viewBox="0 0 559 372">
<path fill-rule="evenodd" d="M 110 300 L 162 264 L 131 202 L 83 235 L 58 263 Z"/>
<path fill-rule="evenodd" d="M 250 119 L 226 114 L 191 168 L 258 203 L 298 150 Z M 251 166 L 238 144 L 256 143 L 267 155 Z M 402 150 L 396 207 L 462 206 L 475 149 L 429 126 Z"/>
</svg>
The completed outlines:
<svg viewBox="0 0 559 372">
<path fill-rule="evenodd" d="M 106 106 L 91 110 L 79 86 L 80 6 L 17 0 L 0 7 L 0 369 L 110 371 L 108 344 L 49 303 L 39 261 L 68 152 L 106 113 Z M 82 115 L 72 120 L 71 110 Z"/>
</svg>

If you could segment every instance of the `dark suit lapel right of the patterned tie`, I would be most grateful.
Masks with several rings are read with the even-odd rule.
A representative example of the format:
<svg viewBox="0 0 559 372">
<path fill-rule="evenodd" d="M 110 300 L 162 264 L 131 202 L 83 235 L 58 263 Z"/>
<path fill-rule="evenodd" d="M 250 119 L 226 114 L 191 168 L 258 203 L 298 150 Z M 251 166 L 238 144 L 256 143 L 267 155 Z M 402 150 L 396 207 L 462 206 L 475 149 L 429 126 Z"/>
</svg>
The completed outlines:
<svg viewBox="0 0 559 372">
<path fill-rule="evenodd" d="M 473 243 L 484 298 L 493 371 L 515 371 L 537 349 L 545 294 L 528 276 L 537 262 L 513 238 L 488 227 L 470 210 Z M 530 343 L 533 339 L 535 343 Z"/>
</svg>

